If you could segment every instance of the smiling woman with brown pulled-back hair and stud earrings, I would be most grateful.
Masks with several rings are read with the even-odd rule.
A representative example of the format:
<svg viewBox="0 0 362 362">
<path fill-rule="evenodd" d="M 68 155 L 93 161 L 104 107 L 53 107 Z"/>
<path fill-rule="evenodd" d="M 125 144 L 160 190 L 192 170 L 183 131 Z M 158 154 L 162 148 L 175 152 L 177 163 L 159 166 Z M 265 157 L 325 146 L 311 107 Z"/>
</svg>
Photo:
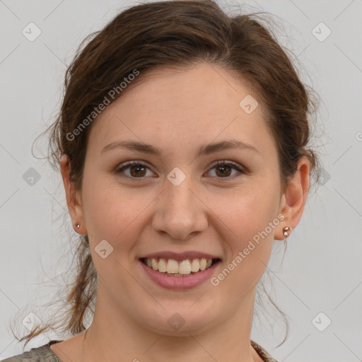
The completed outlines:
<svg viewBox="0 0 362 362">
<path fill-rule="evenodd" d="M 317 158 L 310 95 L 274 37 L 212 1 L 141 4 L 78 52 L 65 88 L 50 144 L 83 235 L 74 336 L 4 361 L 276 361 L 250 341 L 255 292 Z"/>
</svg>

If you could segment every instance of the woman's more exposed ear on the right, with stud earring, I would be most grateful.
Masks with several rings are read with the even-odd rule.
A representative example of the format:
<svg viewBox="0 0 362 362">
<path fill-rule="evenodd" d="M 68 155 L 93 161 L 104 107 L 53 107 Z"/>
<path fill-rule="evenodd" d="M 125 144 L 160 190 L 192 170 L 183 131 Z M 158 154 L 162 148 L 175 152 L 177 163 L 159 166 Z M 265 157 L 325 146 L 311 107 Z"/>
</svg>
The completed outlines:
<svg viewBox="0 0 362 362">
<path fill-rule="evenodd" d="M 293 231 L 293 229 L 298 225 L 300 218 L 303 215 L 309 187 L 310 163 L 308 158 L 303 156 L 298 162 L 296 174 L 288 183 L 286 191 L 281 197 L 279 213 L 284 215 L 284 219 L 280 224 L 280 228 L 274 235 L 276 240 L 285 239 L 283 228 L 289 226 Z"/>
</svg>

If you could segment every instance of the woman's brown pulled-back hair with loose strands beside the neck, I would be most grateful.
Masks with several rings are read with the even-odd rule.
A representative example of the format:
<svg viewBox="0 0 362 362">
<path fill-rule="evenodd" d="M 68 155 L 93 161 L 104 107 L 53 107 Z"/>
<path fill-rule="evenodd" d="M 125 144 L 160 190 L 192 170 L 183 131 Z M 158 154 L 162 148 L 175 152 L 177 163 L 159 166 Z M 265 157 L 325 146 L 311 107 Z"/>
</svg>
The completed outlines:
<svg viewBox="0 0 362 362">
<path fill-rule="evenodd" d="M 60 113 L 47 130 L 51 132 L 52 166 L 58 170 L 60 158 L 66 154 L 71 181 L 80 189 L 91 125 L 83 127 L 74 137 L 69 134 L 75 134 L 74 130 L 104 102 L 105 96 L 134 74 L 135 69 L 139 76 L 132 84 L 156 67 L 188 67 L 200 62 L 232 72 L 255 91 L 266 110 L 267 124 L 276 142 L 283 188 L 296 172 L 302 156 L 310 160 L 311 173 L 317 169 L 317 156 L 308 148 L 310 115 L 315 102 L 286 51 L 257 14 L 229 16 L 210 0 L 133 6 L 119 13 L 103 30 L 83 40 L 66 71 Z M 112 101 L 122 93 L 119 91 Z M 59 319 L 59 327 L 71 334 L 85 329 L 86 313 L 96 297 L 97 274 L 88 248 L 88 235 L 81 241 L 78 240 L 76 249 L 76 277 L 66 300 L 62 300 L 66 313 Z M 262 288 L 265 291 L 264 285 Z M 271 303 L 276 307 L 272 300 Z M 53 322 L 37 326 L 19 341 L 25 339 L 26 346 L 30 339 L 54 329 L 54 325 Z"/>
</svg>

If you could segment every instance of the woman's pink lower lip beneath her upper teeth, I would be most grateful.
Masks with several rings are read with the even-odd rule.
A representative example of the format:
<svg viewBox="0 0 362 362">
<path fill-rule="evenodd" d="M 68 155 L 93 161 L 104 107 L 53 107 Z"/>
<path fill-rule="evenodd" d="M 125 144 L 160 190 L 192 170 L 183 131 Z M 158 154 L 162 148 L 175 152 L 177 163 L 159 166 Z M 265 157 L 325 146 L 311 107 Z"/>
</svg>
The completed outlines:
<svg viewBox="0 0 362 362">
<path fill-rule="evenodd" d="M 194 286 L 199 286 L 204 283 L 204 281 L 211 278 L 211 275 L 214 273 L 219 262 L 211 265 L 211 267 L 197 271 L 197 273 L 189 275 L 189 276 L 169 276 L 164 273 L 160 273 L 160 271 L 156 271 L 148 267 L 143 262 L 139 261 L 141 266 L 144 268 L 144 271 L 148 274 L 148 276 L 159 286 L 168 289 L 189 289 Z"/>
</svg>

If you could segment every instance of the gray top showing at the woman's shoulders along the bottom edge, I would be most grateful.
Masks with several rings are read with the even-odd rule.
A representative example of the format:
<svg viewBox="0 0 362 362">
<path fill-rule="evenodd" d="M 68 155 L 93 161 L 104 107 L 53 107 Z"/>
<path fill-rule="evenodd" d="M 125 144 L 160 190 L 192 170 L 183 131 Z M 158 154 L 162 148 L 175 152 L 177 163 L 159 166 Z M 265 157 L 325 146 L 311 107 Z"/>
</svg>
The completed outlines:
<svg viewBox="0 0 362 362">
<path fill-rule="evenodd" d="M 43 346 L 32 348 L 28 352 L 24 352 L 23 354 L 18 354 L 13 357 L 9 357 L 3 359 L 1 362 L 62 362 L 62 360 L 54 354 L 50 346 L 54 343 L 58 343 L 62 341 L 52 340 Z M 255 343 L 255 341 L 250 340 L 252 347 L 257 351 L 260 357 L 264 362 L 278 362 L 275 358 L 271 357 L 262 346 Z"/>
</svg>

